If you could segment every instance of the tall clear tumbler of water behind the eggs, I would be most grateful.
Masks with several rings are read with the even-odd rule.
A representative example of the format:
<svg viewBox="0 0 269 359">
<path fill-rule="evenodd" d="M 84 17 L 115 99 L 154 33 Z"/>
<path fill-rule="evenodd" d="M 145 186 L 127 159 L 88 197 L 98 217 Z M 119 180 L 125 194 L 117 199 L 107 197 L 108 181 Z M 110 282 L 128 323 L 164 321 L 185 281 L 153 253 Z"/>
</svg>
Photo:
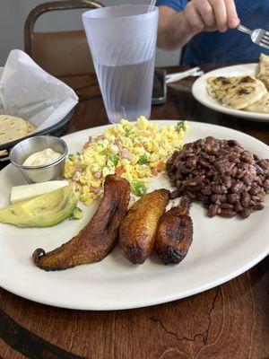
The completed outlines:
<svg viewBox="0 0 269 359">
<path fill-rule="evenodd" d="M 158 8 L 108 6 L 83 13 L 82 22 L 109 121 L 150 118 Z"/>
</svg>

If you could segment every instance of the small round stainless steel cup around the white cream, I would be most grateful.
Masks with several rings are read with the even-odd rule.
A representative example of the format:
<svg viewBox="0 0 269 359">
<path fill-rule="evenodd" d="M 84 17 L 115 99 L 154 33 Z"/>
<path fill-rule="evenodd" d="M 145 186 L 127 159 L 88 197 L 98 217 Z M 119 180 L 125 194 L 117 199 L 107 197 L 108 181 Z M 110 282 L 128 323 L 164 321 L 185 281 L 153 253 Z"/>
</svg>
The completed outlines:
<svg viewBox="0 0 269 359">
<path fill-rule="evenodd" d="M 56 161 L 40 166 L 23 166 L 23 162 L 32 154 L 51 148 L 62 153 Z M 65 157 L 68 149 L 65 141 L 54 136 L 30 137 L 16 144 L 9 155 L 13 166 L 22 172 L 29 183 L 45 182 L 47 180 L 62 180 Z"/>
</svg>

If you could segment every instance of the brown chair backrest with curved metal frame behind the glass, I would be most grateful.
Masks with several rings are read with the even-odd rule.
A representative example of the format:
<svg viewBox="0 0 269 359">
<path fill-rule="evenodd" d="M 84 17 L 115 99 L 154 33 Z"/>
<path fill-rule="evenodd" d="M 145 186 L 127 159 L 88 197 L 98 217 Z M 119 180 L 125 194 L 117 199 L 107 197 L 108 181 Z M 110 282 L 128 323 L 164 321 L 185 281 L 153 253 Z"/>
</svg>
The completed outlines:
<svg viewBox="0 0 269 359">
<path fill-rule="evenodd" d="M 39 4 L 24 26 L 24 49 L 39 66 L 55 76 L 94 73 L 85 32 L 36 32 L 35 22 L 43 13 L 69 9 L 94 9 L 103 5 L 89 0 L 64 0 Z"/>
</svg>

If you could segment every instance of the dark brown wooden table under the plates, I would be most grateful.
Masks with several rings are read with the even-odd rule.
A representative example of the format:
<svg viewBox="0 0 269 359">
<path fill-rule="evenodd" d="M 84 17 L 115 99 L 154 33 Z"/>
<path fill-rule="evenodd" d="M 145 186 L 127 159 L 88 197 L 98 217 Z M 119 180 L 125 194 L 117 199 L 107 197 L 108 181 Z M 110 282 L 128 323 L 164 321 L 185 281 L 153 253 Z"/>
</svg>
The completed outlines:
<svg viewBox="0 0 269 359">
<path fill-rule="evenodd" d="M 63 80 L 81 96 L 69 133 L 108 123 L 98 87 L 87 87 L 90 75 Z M 152 118 L 214 123 L 269 144 L 269 124 L 204 108 L 190 93 L 192 82 L 188 78 L 171 85 L 167 102 L 152 107 Z M 268 358 L 268 265 L 269 257 L 210 291 L 130 311 L 57 309 L 0 289 L 0 358 Z"/>
</svg>

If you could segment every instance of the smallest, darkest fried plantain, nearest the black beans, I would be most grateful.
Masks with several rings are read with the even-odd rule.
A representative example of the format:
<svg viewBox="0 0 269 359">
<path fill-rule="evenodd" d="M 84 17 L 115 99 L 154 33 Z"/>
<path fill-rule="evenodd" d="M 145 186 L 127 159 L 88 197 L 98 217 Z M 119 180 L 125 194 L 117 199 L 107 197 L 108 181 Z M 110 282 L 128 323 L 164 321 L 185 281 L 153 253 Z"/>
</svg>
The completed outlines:
<svg viewBox="0 0 269 359">
<path fill-rule="evenodd" d="M 182 197 L 178 207 L 161 216 L 155 250 L 164 264 L 178 264 L 187 256 L 194 234 L 190 205 L 190 199 Z"/>
</svg>

